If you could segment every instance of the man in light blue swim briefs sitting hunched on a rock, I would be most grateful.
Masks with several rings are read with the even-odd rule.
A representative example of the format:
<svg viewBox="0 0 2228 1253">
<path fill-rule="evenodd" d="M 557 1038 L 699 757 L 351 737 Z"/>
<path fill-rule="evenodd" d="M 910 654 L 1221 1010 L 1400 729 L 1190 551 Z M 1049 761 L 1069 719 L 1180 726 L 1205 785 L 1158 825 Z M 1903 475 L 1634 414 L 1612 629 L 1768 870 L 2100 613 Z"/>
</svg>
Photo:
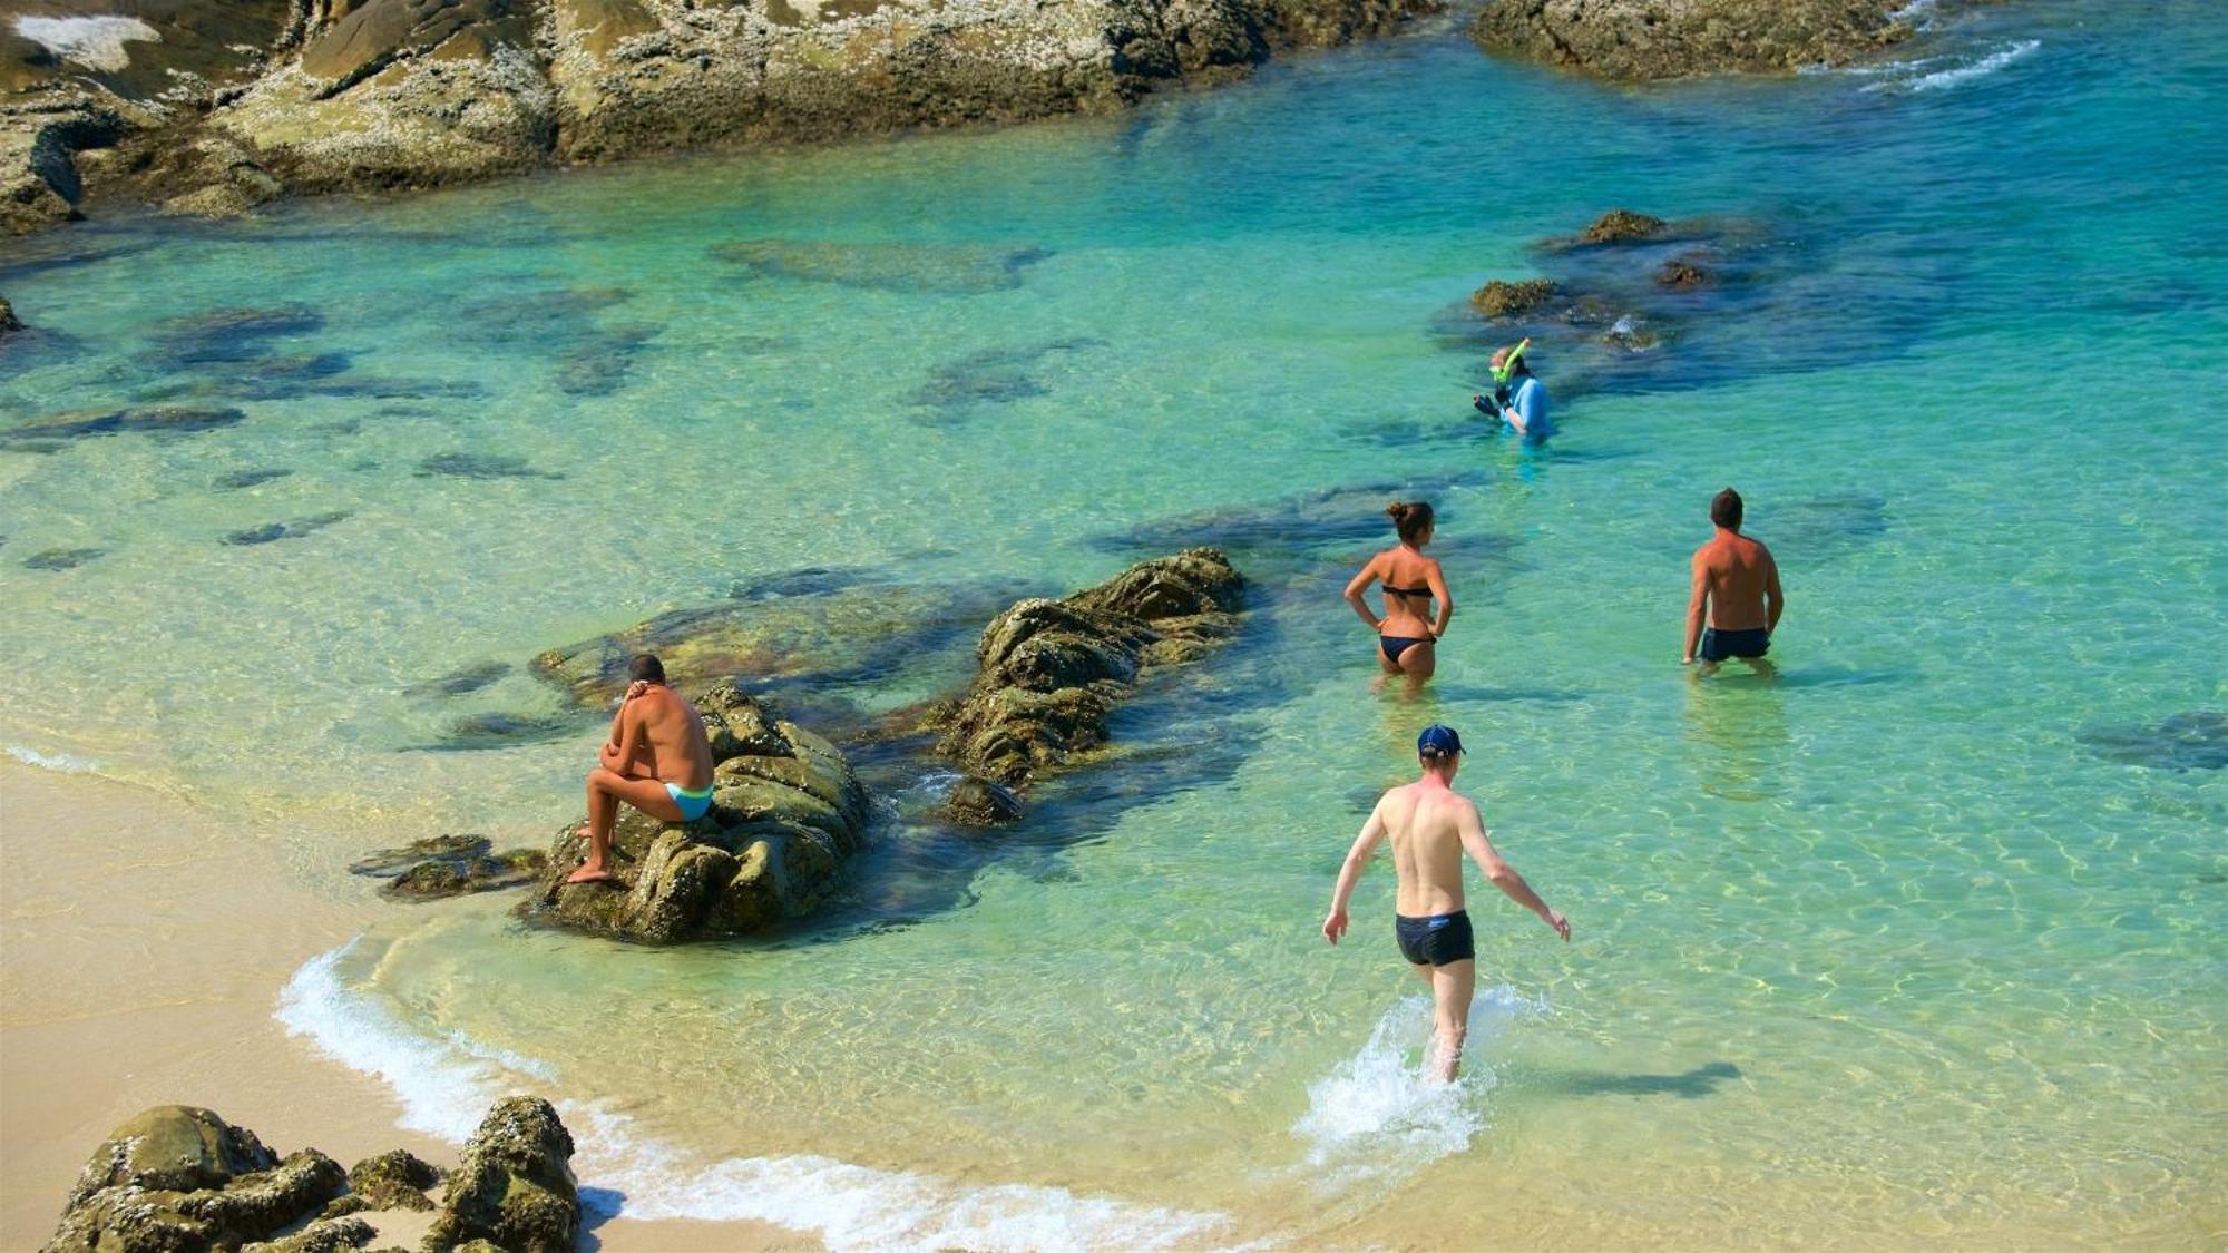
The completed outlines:
<svg viewBox="0 0 2228 1253">
<path fill-rule="evenodd" d="M 695 707 L 666 687 L 666 667 L 642 653 L 628 669 L 602 765 L 588 771 L 588 861 L 566 883 L 610 878 L 610 827 L 619 800 L 666 823 L 695 823 L 711 809 L 711 742 Z"/>
</svg>

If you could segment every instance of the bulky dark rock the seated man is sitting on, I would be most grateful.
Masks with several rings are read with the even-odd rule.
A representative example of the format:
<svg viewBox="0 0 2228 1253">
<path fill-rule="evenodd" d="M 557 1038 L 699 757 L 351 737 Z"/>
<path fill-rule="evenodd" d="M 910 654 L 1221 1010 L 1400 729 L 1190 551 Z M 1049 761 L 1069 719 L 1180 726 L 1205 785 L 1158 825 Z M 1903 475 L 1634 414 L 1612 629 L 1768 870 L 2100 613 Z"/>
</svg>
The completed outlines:
<svg viewBox="0 0 2228 1253">
<path fill-rule="evenodd" d="M 778 718 L 733 682 L 695 700 L 711 736 L 713 803 L 695 823 L 619 807 L 613 883 L 566 883 L 588 852 L 577 827 L 550 847 L 519 912 L 637 943 L 755 934 L 809 914 L 867 838 L 867 791 L 836 745 Z"/>
</svg>

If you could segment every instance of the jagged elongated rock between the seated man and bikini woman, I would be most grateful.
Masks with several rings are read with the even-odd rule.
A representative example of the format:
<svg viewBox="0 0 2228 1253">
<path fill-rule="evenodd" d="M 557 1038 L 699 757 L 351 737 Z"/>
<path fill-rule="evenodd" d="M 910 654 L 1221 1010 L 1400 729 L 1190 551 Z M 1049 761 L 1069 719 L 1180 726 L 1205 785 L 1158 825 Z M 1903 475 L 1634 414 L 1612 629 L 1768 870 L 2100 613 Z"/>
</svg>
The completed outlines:
<svg viewBox="0 0 2228 1253">
<path fill-rule="evenodd" d="M 938 749 L 1025 787 L 1105 745 L 1145 669 L 1188 662 L 1239 626 L 1245 580 L 1214 548 L 1139 562 L 1067 600 L 1023 600 L 976 647 L 967 693 L 931 716 Z"/>
</svg>

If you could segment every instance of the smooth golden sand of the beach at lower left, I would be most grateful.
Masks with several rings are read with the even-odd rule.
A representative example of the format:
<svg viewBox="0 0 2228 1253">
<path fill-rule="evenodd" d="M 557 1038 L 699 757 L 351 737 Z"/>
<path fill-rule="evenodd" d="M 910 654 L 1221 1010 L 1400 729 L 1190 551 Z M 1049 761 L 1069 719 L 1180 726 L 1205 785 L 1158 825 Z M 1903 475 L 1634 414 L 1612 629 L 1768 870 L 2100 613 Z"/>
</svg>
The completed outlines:
<svg viewBox="0 0 2228 1253">
<path fill-rule="evenodd" d="M 272 1017 L 303 961 L 390 905 L 292 881 L 252 825 L 13 760 L 0 760 L 0 1249 L 53 1235 L 85 1157 L 147 1106 L 207 1106 L 278 1153 L 316 1146 L 343 1166 L 385 1148 L 457 1162 L 394 1126 L 401 1106 L 377 1079 Z M 624 1217 L 582 1244 L 818 1249 L 775 1226 Z"/>
</svg>

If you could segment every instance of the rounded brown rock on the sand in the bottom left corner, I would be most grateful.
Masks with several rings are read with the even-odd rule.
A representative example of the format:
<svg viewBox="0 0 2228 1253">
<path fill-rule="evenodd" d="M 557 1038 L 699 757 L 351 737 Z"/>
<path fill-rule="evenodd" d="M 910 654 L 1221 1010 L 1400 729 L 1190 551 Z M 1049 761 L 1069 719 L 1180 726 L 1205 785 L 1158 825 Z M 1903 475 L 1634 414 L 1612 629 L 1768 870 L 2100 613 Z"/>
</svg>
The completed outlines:
<svg viewBox="0 0 2228 1253">
<path fill-rule="evenodd" d="M 47 1253 L 238 1249 L 319 1215 L 345 1182 L 314 1148 L 278 1159 L 209 1110 L 156 1106 L 87 1159 Z"/>
</svg>

